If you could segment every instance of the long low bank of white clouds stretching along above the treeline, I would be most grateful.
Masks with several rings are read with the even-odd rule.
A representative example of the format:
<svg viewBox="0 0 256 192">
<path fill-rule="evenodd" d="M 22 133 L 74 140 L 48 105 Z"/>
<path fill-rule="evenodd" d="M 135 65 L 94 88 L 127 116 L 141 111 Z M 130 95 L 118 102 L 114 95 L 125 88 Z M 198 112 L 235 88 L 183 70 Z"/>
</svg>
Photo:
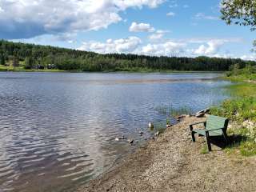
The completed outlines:
<svg viewBox="0 0 256 192">
<path fill-rule="evenodd" d="M 165 34 L 169 31 L 157 30 L 154 34 Z M 153 34 L 152 34 L 153 35 Z M 161 36 L 162 38 L 162 36 Z M 241 42 L 239 38 L 190 38 L 190 39 L 165 39 L 159 41 L 157 36 L 150 40 L 155 42 L 142 43 L 138 37 L 108 39 L 106 42 L 83 42 L 78 50 L 94 51 L 100 54 L 125 53 L 145 54 L 152 56 L 182 56 L 195 57 L 205 55 L 218 58 L 235 58 L 228 50 L 223 51 L 222 46 L 230 42 Z M 197 47 L 197 48 L 195 48 Z M 256 56 L 242 56 L 242 59 L 252 60 Z M 254 59 L 255 60 L 255 59 Z"/>
</svg>

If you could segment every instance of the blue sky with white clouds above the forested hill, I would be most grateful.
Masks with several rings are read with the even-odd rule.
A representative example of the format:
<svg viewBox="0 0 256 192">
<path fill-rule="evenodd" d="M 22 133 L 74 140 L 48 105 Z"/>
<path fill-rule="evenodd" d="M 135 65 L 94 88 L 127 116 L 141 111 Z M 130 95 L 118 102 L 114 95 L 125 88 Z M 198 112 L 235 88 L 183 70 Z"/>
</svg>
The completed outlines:
<svg viewBox="0 0 256 192">
<path fill-rule="evenodd" d="M 254 32 L 220 0 L 0 0 L 0 38 L 101 54 L 256 60 Z"/>
</svg>

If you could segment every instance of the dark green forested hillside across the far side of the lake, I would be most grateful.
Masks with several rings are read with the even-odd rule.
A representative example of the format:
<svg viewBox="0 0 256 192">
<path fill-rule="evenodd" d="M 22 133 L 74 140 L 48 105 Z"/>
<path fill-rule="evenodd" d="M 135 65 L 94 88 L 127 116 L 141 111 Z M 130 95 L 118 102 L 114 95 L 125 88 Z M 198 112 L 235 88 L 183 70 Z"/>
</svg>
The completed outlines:
<svg viewBox="0 0 256 192">
<path fill-rule="evenodd" d="M 129 70 L 200 70 L 226 71 L 238 64 L 241 68 L 256 62 L 234 58 L 151 57 L 137 54 L 96 54 L 54 46 L 0 40 L 0 64 L 14 63 L 26 69 L 52 66 L 58 70 L 129 71 Z"/>
</svg>

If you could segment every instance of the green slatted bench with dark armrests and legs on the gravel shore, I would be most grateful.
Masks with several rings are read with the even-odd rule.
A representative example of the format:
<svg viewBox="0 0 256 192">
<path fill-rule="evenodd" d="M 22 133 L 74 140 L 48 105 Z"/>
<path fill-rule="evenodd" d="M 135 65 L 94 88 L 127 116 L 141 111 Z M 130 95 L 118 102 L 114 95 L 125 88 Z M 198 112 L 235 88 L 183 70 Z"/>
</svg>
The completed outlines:
<svg viewBox="0 0 256 192">
<path fill-rule="evenodd" d="M 226 129 L 228 126 L 229 120 L 227 118 L 222 118 L 214 115 L 209 115 L 206 118 L 206 122 L 197 122 L 190 125 L 190 131 L 192 135 L 192 141 L 195 142 L 194 134 L 200 136 L 205 136 L 207 141 L 208 150 L 211 151 L 210 138 L 216 136 L 222 136 L 225 139 L 225 142 L 228 142 L 228 137 L 226 134 Z M 203 123 L 205 129 L 194 130 L 193 126 Z"/>
</svg>

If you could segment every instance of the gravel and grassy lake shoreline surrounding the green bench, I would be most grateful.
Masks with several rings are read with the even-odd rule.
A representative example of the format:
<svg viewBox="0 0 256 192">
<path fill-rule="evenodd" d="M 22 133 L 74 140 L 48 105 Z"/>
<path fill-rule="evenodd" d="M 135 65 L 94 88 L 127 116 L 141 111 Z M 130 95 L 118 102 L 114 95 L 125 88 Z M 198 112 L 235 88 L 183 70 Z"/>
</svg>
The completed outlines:
<svg viewBox="0 0 256 192">
<path fill-rule="evenodd" d="M 225 79 L 234 81 L 234 78 Z M 250 108 L 246 99 L 256 97 L 256 86 L 255 81 L 238 82 L 246 85 L 238 83 L 229 88 L 238 98 L 230 99 L 227 106 L 218 106 L 217 111 L 216 107 L 211 109 L 215 115 L 222 110 L 232 114 L 228 127 L 230 145 L 219 148 L 211 144 L 213 151 L 208 153 L 205 138 L 197 137 L 192 142 L 188 127 L 205 118 L 186 117 L 77 191 L 255 191 L 256 144 L 247 134 L 256 122 L 254 118 L 246 118 L 243 109 L 233 109 L 234 113 L 229 106 L 242 102 Z M 247 138 L 239 140 L 242 137 Z"/>
</svg>

